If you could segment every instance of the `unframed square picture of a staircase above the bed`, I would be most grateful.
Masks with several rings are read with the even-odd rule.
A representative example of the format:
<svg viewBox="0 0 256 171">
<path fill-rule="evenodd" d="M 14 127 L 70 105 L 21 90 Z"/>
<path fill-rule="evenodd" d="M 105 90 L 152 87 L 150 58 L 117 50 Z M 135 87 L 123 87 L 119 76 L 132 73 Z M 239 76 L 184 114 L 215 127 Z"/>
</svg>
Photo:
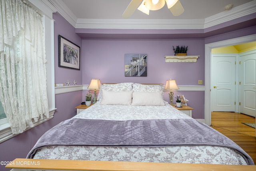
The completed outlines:
<svg viewBox="0 0 256 171">
<path fill-rule="evenodd" d="M 147 54 L 124 54 L 124 76 L 146 77 Z"/>
</svg>

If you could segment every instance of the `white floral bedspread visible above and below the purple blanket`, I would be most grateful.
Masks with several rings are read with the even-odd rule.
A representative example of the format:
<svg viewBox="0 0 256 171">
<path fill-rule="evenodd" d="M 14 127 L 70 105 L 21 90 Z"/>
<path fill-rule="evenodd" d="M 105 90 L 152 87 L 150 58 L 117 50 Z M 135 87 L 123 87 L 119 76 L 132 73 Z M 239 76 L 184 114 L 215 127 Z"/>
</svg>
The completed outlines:
<svg viewBox="0 0 256 171">
<path fill-rule="evenodd" d="M 160 106 L 103 105 L 101 103 L 96 103 L 91 107 L 88 107 L 86 110 L 82 111 L 78 115 L 74 116 L 72 119 L 91 119 L 106 121 L 168 119 L 170 121 L 174 120 L 177 122 L 179 120 L 189 122 L 192 119 L 193 122 L 195 122 L 195 119 L 189 117 L 188 115 L 182 113 L 181 111 L 175 109 L 167 103 L 165 105 Z M 207 129 L 208 128 L 212 129 L 207 126 Z M 198 136 L 195 137 L 200 137 L 199 133 Z M 31 151 L 34 151 L 34 155 L 32 157 L 28 155 L 28 158 L 34 159 L 206 163 L 229 165 L 254 164 L 250 156 L 248 156 L 242 149 L 238 150 L 231 147 L 224 147 L 222 145 L 216 144 L 166 146 L 104 146 L 86 144 L 51 144 L 36 149 L 32 149 Z"/>
</svg>

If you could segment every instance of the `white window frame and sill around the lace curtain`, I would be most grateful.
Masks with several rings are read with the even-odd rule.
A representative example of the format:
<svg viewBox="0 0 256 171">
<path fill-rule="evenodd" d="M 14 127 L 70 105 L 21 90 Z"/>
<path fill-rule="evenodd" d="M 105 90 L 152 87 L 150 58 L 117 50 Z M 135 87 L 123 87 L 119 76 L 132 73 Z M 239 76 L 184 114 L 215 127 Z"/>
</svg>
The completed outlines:
<svg viewBox="0 0 256 171">
<path fill-rule="evenodd" d="M 34 127 L 48 121 L 53 118 L 55 108 L 55 87 L 54 87 L 54 20 L 52 19 L 52 13 L 56 12 L 53 8 L 46 6 L 43 0 L 28 0 L 30 5 L 38 10 L 38 12 L 43 16 L 42 21 L 44 25 L 44 35 L 45 35 L 45 51 L 46 51 L 46 77 L 47 77 L 47 96 L 49 105 L 50 117 L 43 119 L 38 119 L 34 123 Z M 47 32 L 46 32 L 47 30 Z M 50 30 L 50 31 L 49 31 Z M 31 129 L 28 127 L 25 131 Z M 0 143 L 16 136 L 19 134 L 12 134 L 10 124 L 7 118 L 0 119 Z"/>
</svg>

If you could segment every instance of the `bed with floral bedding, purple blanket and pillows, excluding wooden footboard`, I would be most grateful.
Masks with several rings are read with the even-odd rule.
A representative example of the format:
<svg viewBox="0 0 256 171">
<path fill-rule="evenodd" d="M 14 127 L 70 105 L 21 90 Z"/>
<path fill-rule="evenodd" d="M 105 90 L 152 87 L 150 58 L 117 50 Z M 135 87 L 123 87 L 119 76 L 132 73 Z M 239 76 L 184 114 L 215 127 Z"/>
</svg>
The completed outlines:
<svg viewBox="0 0 256 171">
<path fill-rule="evenodd" d="M 161 85 L 101 85 L 98 101 L 47 131 L 28 159 L 254 165 L 236 143 L 172 107 Z"/>
</svg>

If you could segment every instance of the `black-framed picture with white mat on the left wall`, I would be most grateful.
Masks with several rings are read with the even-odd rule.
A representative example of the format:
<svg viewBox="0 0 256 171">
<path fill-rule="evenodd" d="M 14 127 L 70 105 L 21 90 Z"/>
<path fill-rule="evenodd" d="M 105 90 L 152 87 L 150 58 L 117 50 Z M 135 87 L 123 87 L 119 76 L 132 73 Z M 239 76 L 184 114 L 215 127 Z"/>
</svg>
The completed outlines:
<svg viewBox="0 0 256 171">
<path fill-rule="evenodd" d="M 60 35 L 59 67 L 80 70 L 80 47 Z"/>
</svg>

